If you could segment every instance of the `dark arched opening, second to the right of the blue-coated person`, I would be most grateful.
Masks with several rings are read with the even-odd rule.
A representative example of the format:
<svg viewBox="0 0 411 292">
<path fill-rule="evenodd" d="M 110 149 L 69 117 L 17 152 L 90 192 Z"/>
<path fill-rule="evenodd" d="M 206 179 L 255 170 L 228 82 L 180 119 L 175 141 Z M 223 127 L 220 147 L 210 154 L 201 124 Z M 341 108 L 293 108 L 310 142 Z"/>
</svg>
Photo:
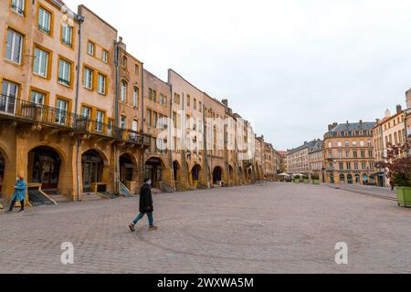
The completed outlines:
<svg viewBox="0 0 411 292">
<path fill-rule="evenodd" d="M 102 183 L 104 161 L 100 153 L 95 150 L 86 151 L 81 156 L 81 173 L 83 177 L 83 191 L 90 192 L 92 183 Z"/>
</svg>

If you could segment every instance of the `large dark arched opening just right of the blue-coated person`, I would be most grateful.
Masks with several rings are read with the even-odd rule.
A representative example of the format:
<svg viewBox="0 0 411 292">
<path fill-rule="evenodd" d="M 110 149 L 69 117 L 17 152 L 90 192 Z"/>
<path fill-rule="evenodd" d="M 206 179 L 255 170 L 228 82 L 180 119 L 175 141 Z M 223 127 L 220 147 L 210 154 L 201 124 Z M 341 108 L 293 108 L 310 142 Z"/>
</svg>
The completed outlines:
<svg viewBox="0 0 411 292">
<path fill-rule="evenodd" d="M 61 157 L 48 146 L 39 146 L 28 152 L 27 181 L 41 183 L 43 190 L 57 190 Z"/>
</svg>

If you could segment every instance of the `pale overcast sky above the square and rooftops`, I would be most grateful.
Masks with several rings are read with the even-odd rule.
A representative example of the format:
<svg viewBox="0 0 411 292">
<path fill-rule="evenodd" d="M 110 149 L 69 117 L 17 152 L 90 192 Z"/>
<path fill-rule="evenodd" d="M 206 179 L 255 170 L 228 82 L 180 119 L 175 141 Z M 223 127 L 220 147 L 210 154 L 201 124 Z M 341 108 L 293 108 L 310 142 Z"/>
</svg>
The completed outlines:
<svg viewBox="0 0 411 292">
<path fill-rule="evenodd" d="M 163 80 L 174 68 L 228 98 L 278 150 L 382 118 L 411 88 L 409 0 L 64 1 L 116 27 Z"/>
</svg>

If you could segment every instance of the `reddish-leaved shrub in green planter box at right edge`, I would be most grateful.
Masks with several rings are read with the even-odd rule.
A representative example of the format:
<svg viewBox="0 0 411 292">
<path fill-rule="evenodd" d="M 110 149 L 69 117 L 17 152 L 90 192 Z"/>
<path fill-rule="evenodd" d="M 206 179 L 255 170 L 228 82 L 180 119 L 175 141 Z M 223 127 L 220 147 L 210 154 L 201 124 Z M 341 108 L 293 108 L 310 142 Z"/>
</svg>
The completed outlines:
<svg viewBox="0 0 411 292">
<path fill-rule="evenodd" d="M 387 162 L 388 177 L 395 186 L 398 205 L 411 207 L 411 156 L 410 143 L 402 146 L 388 145 Z"/>
</svg>

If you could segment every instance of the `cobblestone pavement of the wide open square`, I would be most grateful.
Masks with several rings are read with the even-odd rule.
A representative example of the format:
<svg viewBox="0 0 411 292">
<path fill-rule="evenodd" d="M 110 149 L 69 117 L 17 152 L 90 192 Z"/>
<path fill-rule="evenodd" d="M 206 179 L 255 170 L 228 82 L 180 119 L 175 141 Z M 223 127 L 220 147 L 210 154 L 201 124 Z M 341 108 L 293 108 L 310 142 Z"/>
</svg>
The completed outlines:
<svg viewBox="0 0 411 292">
<path fill-rule="evenodd" d="M 411 210 L 327 186 L 269 183 L 0 214 L 0 273 L 410 273 Z M 74 265 L 60 263 L 63 242 Z M 336 265 L 345 242 L 349 264 Z"/>
</svg>

